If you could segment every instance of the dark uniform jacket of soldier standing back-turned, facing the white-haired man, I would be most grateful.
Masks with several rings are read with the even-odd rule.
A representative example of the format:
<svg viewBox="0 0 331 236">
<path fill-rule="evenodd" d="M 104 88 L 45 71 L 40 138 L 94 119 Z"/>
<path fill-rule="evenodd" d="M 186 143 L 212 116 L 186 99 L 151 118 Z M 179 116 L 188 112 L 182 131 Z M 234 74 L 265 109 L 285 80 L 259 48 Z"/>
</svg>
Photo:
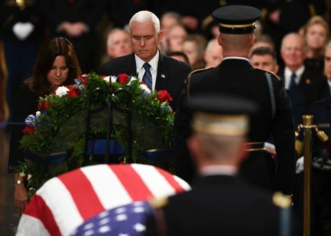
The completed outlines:
<svg viewBox="0 0 331 236">
<path fill-rule="evenodd" d="M 189 97 L 201 93 L 222 93 L 250 99 L 259 106 L 259 112 L 251 119 L 249 139 L 252 142 L 265 142 L 274 137 L 277 151 L 277 169 L 272 158 L 263 151 L 251 152 L 241 166 L 241 173 L 252 183 L 263 188 L 281 190 L 292 194 L 295 175 L 294 126 L 290 100 L 277 77 L 270 74 L 274 88 L 275 115 L 272 118 L 271 101 L 265 71 L 253 68 L 242 59 L 226 59 L 210 70 L 196 72 L 190 77 L 188 88 L 183 91 L 183 102 L 174 121 L 177 175 L 190 181 L 192 161 L 186 146 L 190 135 L 191 112 L 183 104 Z M 277 181 L 276 175 L 277 173 Z"/>
</svg>

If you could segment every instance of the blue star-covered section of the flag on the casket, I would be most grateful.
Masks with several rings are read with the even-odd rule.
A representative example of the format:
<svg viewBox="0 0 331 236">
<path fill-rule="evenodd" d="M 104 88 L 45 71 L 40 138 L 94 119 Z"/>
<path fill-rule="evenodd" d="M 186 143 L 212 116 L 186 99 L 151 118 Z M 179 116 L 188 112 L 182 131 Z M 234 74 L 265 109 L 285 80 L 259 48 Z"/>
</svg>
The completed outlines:
<svg viewBox="0 0 331 236">
<path fill-rule="evenodd" d="M 147 201 L 134 201 L 92 217 L 79 226 L 73 235 L 141 236 L 146 231 L 146 219 L 152 214 L 152 207 Z"/>
</svg>

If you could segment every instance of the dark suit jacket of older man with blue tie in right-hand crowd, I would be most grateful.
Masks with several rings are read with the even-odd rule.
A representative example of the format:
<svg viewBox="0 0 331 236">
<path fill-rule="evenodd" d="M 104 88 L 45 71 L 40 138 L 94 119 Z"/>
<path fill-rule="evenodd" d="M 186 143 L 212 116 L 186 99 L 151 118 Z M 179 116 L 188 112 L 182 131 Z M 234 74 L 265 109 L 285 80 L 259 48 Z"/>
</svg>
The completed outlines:
<svg viewBox="0 0 331 236">
<path fill-rule="evenodd" d="M 284 70 L 285 68 L 281 68 L 278 72 L 281 78 L 284 78 Z M 305 67 L 305 70 L 303 70 L 297 92 L 304 95 L 307 104 L 330 97 L 326 78 L 319 70 L 310 67 Z"/>
</svg>

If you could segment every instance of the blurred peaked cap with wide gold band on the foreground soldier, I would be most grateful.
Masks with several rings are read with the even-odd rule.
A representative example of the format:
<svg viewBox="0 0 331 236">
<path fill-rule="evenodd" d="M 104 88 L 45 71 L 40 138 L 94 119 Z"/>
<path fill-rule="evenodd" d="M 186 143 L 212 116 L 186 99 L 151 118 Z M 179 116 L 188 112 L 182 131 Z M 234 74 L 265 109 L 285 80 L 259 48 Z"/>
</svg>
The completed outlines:
<svg viewBox="0 0 331 236">
<path fill-rule="evenodd" d="M 192 129 L 208 135 L 243 136 L 257 104 L 225 95 L 195 95 L 186 104 L 193 110 Z"/>
</svg>

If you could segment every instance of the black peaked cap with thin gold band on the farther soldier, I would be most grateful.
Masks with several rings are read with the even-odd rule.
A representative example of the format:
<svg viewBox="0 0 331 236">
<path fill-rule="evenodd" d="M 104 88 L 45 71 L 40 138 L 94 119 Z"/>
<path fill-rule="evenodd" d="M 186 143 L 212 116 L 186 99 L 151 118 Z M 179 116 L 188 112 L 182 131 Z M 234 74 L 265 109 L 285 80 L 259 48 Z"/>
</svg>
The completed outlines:
<svg viewBox="0 0 331 236">
<path fill-rule="evenodd" d="M 252 6 L 223 6 L 212 12 L 219 22 L 219 30 L 225 34 L 250 34 L 257 28 L 255 21 L 262 16 L 261 10 Z"/>
</svg>

